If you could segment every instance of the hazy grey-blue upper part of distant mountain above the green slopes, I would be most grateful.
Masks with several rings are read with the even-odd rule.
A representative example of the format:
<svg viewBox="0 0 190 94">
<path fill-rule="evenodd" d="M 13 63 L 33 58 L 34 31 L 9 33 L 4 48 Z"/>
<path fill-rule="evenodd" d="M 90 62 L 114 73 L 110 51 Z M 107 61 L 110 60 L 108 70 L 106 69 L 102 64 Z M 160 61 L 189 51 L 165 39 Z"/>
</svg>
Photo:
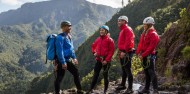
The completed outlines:
<svg viewBox="0 0 190 94">
<path fill-rule="evenodd" d="M 26 3 L 17 10 L 1 13 L 0 26 L 32 23 L 32 26 L 37 25 L 55 32 L 59 30 L 61 21 L 69 20 L 73 24 L 74 42 L 78 47 L 98 26 L 108 21 L 116 10 L 85 0 Z M 33 28 L 34 32 L 38 31 L 38 28 Z"/>
</svg>

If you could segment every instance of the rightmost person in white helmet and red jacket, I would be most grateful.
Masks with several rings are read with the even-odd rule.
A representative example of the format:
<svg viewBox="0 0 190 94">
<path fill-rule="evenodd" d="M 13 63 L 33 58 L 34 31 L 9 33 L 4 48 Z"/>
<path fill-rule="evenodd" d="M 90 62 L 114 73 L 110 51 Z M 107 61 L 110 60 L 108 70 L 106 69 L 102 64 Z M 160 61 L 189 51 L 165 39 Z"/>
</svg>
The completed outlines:
<svg viewBox="0 0 190 94">
<path fill-rule="evenodd" d="M 144 31 L 141 34 L 140 42 L 136 54 L 141 59 L 146 78 L 145 88 L 139 93 L 149 93 L 150 82 L 152 81 L 154 94 L 158 94 L 157 76 L 155 73 L 156 46 L 159 42 L 159 36 L 154 28 L 155 21 L 152 17 L 147 17 L 143 21 Z M 149 62 L 149 63 L 148 63 Z"/>
</svg>

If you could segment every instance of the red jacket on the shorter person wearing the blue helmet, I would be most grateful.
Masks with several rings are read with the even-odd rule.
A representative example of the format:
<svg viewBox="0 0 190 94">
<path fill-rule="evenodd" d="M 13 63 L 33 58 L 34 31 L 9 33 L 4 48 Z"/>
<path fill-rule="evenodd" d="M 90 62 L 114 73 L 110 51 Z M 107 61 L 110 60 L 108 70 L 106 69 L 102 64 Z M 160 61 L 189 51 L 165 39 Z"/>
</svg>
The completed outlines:
<svg viewBox="0 0 190 94">
<path fill-rule="evenodd" d="M 107 62 L 110 62 L 114 54 L 114 41 L 109 36 L 100 36 L 92 44 L 92 52 L 97 53 L 96 60 L 101 61 L 100 57 L 104 57 Z"/>
</svg>

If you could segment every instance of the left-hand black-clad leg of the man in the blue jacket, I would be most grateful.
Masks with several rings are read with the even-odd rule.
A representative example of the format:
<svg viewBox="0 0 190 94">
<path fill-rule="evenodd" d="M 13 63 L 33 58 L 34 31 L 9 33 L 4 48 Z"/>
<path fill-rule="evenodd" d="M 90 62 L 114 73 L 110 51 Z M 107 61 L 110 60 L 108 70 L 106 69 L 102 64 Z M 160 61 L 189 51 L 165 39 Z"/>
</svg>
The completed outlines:
<svg viewBox="0 0 190 94">
<path fill-rule="evenodd" d="M 65 70 L 62 69 L 62 64 L 61 63 L 58 63 L 58 69 L 56 71 L 56 78 L 55 78 L 55 81 L 54 81 L 54 86 L 55 86 L 55 94 L 59 94 L 59 91 L 60 91 L 60 84 L 61 84 L 61 81 L 64 77 L 64 74 L 65 74 Z"/>
</svg>

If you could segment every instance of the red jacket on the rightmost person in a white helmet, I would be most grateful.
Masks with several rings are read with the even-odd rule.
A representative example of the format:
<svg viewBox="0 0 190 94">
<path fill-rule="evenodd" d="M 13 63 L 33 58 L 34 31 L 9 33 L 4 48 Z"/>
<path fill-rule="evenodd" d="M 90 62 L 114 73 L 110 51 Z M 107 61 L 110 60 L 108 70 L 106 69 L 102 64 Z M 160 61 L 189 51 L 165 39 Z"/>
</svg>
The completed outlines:
<svg viewBox="0 0 190 94">
<path fill-rule="evenodd" d="M 158 45 L 160 38 L 154 28 L 150 28 L 147 35 L 141 34 L 140 42 L 136 54 L 141 54 L 142 57 L 146 57 L 150 54 L 155 54 L 156 46 Z"/>
</svg>

